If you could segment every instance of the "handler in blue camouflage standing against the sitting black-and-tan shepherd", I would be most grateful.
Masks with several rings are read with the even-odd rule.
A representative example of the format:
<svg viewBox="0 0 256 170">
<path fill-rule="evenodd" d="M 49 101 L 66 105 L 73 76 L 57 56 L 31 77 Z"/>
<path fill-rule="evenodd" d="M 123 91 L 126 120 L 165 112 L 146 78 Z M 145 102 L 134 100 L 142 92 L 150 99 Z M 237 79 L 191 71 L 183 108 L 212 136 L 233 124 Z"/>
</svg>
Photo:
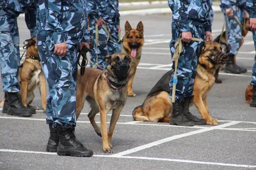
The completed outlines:
<svg viewBox="0 0 256 170">
<path fill-rule="evenodd" d="M 171 125 L 192 126 L 206 124 L 189 112 L 189 103 L 193 96 L 193 84 L 196 66 L 202 42 L 191 41 L 191 38 L 212 39 L 211 34 L 211 2 L 168 0 L 172 10 L 172 41 L 170 50 L 175 53 L 175 42 L 182 36 L 183 52 L 180 54 L 177 68 L 177 87 Z M 198 12 L 200 11 L 200 12 Z M 174 64 L 173 64 L 174 66 Z M 173 74 L 170 80 L 170 97 L 172 98 Z"/>
</svg>

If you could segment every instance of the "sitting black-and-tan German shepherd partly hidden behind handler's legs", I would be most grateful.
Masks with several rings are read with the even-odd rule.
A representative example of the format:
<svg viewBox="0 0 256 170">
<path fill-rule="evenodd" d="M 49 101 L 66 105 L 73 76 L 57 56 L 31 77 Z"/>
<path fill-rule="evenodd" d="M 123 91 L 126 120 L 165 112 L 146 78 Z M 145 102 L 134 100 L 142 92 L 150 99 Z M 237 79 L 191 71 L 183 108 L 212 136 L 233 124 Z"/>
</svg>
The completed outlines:
<svg viewBox="0 0 256 170">
<path fill-rule="evenodd" d="M 222 60 L 221 60 L 222 59 Z M 221 51 L 216 42 L 205 42 L 198 57 L 195 83 L 193 86 L 193 103 L 208 125 L 217 125 L 218 120 L 209 114 L 207 94 L 214 85 L 214 71 L 220 64 L 227 62 L 227 55 Z M 169 97 L 169 81 L 173 70 L 165 73 L 148 93 L 144 103 L 136 107 L 132 116 L 134 120 L 150 122 L 169 122 L 172 113 L 172 101 Z"/>
</svg>

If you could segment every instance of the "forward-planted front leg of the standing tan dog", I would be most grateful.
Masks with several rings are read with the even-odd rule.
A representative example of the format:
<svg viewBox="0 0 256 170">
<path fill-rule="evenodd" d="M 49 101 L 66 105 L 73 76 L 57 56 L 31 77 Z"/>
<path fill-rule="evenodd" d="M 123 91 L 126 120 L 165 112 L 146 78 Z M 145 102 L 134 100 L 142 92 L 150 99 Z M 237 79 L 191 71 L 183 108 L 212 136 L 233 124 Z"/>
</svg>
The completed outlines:
<svg viewBox="0 0 256 170">
<path fill-rule="evenodd" d="M 108 111 L 105 108 L 100 110 L 100 131 L 102 135 L 102 145 L 105 153 L 113 153 L 108 144 L 108 127 L 107 127 Z"/>
</svg>

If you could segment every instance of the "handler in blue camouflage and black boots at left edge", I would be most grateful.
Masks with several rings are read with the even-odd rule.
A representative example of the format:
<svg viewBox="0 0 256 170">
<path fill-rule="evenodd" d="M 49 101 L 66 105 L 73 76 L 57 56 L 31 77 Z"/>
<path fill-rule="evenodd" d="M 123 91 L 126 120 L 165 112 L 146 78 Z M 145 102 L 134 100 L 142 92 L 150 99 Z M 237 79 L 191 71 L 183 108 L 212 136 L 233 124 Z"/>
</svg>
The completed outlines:
<svg viewBox="0 0 256 170">
<path fill-rule="evenodd" d="M 26 108 L 17 97 L 19 92 L 19 29 L 17 17 L 25 13 L 25 20 L 31 34 L 36 36 L 36 6 L 29 0 L 0 1 L 0 63 L 4 90 L 3 113 L 29 117 L 35 109 Z"/>
</svg>

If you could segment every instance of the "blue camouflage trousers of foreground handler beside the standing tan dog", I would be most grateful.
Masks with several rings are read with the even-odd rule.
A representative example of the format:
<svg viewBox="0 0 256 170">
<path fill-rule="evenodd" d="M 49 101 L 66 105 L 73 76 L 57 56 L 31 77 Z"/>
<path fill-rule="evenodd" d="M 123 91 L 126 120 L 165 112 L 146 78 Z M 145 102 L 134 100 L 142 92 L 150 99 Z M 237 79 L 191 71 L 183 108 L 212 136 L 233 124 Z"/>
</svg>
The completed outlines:
<svg viewBox="0 0 256 170">
<path fill-rule="evenodd" d="M 46 122 L 70 127 L 76 125 L 78 46 L 68 45 L 65 57 L 55 55 L 53 46 L 51 42 L 37 42 L 42 68 L 49 85 Z"/>
</svg>

